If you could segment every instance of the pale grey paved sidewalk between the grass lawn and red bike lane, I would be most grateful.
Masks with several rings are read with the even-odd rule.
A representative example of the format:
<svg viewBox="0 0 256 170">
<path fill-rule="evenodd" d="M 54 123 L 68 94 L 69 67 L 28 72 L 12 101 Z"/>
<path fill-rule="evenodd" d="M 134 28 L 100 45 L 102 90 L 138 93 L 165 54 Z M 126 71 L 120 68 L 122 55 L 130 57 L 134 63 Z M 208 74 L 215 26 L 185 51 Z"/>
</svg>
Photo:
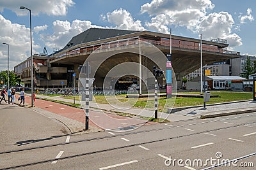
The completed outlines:
<svg viewBox="0 0 256 170">
<path fill-rule="evenodd" d="M 40 99 L 52 99 L 57 101 L 65 101 L 68 103 L 74 103 L 73 99 L 63 99 L 62 97 L 49 97 L 36 95 Z M 76 103 L 80 103 L 76 101 Z M 81 104 L 84 105 L 84 101 L 81 101 Z M 132 115 L 140 115 L 142 117 L 154 117 L 154 111 L 152 110 L 142 110 L 139 108 L 129 108 L 127 110 L 120 110 L 114 108 L 109 104 L 97 104 L 90 102 L 91 110 L 102 110 L 104 112 L 118 112 L 118 113 L 128 113 Z M 177 109 L 177 108 L 175 108 Z M 179 110 L 179 109 L 177 109 Z M 203 106 L 191 106 L 190 108 L 182 108 L 180 111 L 175 111 L 174 113 L 158 113 L 159 118 L 166 118 L 170 122 L 180 121 L 180 120 L 189 120 L 193 118 L 210 118 L 210 117 L 221 117 L 225 115 L 236 115 L 241 113 L 250 113 L 256 111 L 256 102 L 253 100 L 248 101 L 236 101 L 229 103 L 220 103 L 220 104 L 209 104 L 206 105 L 204 109 Z"/>
</svg>

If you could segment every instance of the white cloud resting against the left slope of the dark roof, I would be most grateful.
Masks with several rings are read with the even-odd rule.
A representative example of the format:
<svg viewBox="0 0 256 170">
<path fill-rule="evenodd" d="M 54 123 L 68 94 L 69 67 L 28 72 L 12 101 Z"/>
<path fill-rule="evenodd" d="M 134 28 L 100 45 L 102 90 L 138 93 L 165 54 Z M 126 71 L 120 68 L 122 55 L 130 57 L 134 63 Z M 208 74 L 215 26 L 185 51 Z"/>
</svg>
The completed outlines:
<svg viewBox="0 0 256 170">
<path fill-rule="evenodd" d="M 74 20 L 72 23 L 61 20 L 56 20 L 53 23 L 53 33 L 52 34 L 41 34 L 40 37 L 45 41 L 50 49 L 52 48 L 63 48 L 67 42 L 77 34 L 86 31 L 86 29 L 92 27 L 99 27 L 97 25 L 92 25 L 92 22 L 88 20 Z"/>
</svg>

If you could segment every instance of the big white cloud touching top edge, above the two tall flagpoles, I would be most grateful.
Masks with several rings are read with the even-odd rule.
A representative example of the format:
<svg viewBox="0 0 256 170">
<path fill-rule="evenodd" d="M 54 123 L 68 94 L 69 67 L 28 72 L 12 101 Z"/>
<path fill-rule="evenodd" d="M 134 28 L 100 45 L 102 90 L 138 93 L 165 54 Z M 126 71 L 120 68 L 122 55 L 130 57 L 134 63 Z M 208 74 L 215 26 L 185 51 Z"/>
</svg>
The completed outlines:
<svg viewBox="0 0 256 170">
<path fill-rule="evenodd" d="M 141 13 L 156 15 L 146 26 L 150 30 L 167 33 L 167 26 L 184 26 L 187 29 L 195 29 L 204 17 L 206 10 L 214 8 L 209 0 L 153 0 L 151 3 L 141 6 Z M 157 27 L 160 25 L 160 27 Z"/>
</svg>

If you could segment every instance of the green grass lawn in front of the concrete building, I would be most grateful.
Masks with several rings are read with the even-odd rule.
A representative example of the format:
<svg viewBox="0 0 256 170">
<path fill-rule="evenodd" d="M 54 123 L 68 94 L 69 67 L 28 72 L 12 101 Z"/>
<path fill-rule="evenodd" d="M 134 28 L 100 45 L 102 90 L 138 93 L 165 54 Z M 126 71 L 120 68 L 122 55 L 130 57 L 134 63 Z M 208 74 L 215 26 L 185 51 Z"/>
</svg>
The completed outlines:
<svg viewBox="0 0 256 170">
<path fill-rule="evenodd" d="M 200 92 L 179 92 L 179 94 L 200 94 Z M 212 103 L 224 103 L 228 101 L 242 101 L 247 99 L 253 99 L 252 92 L 230 92 L 230 91 L 212 91 L 212 95 L 218 95 L 220 97 L 212 97 L 207 104 Z M 108 96 L 107 96 L 108 97 Z M 125 103 L 128 101 L 125 94 L 116 96 L 120 102 Z M 73 96 L 65 97 L 68 99 L 73 99 Z M 105 96 L 94 96 L 95 102 L 101 104 L 108 104 Z M 76 96 L 76 100 L 79 100 L 79 97 Z M 174 102 L 174 99 L 172 99 Z M 159 98 L 159 111 L 163 110 L 163 106 L 166 103 L 166 97 Z M 183 107 L 183 106 L 196 106 L 202 105 L 204 103 L 203 98 L 196 97 L 176 97 L 175 103 L 173 104 L 174 108 Z M 139 98 L 134 105 L 136 108 L 154 108 L 154 97 L 148 98 Z"/>
</svg>

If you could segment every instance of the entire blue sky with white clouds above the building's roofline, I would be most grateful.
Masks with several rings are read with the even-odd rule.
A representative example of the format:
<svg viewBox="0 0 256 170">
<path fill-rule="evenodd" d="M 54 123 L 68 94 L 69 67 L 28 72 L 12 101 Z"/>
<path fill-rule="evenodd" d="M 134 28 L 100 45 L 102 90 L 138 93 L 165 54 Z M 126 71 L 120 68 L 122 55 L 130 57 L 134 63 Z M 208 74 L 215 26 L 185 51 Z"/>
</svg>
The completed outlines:
<svg viewBox="0 0 256 170">
<path fill-rule="evenodd" d="M 256 55 L 256 1 L 232 0 L 0 0 L 0 70 L 29 57 L 29 13 L 33 53 L 61 49 L 90 27 L 148 30 L 203 39 L 227 39 L 229 50 Z"/>
</svg>

